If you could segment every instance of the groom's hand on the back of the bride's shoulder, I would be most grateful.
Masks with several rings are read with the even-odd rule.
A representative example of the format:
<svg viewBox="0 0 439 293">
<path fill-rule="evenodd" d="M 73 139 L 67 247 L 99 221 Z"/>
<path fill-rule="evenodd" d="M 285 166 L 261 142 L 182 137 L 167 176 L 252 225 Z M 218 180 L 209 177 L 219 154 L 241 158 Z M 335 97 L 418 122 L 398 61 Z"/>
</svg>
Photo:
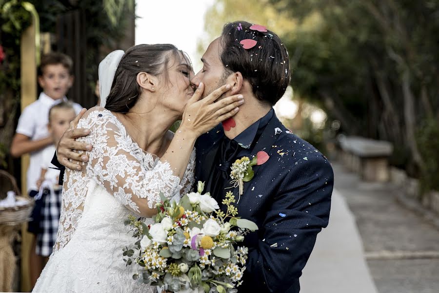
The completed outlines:
<svg viewBox="0 0 439 293">
<path fill-rule="evenodd" d="M 87 155 L 80 155 L 73 150 L 91 150 L 93 147 L 90 144 L 76 141 L 76 138 L 87 136 L 90 133 L 89 129 L 76 128 L 86 111 L 87 109 L 82 109 L 75 120 L 70 123 L 70 127 L 62 135 L 57 147 L 58 162 L 72 170 L 82 170 L 85 168 L 82 162 L 88 161 Z"/>
</svg>

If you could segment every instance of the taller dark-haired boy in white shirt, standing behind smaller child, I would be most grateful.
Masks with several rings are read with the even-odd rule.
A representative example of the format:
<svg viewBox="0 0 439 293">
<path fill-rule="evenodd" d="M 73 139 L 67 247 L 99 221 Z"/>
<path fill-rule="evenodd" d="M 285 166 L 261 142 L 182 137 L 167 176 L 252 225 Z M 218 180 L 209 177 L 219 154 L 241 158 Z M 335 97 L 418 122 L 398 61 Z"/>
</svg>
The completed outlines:
<svg viewBox="0 0 439 293">
<path fill-rule="evenodd" d="M 11 144 L 11 155 L 20 157 L 30 153 L 30 164 L 27 170 L 27 192 L 31 197 L 39 193 L 37 180 L 40 178 L 40 162 L 42 150 L 53 144 L 47 124 L 49 109 L 60 102 L 67 101 L 65 94 L 73 84 L 73 62 L 70 57 L 61 53 L 49 53 L 41 58 L 38 82 L 42 92 L 37 101 L 24 108 L 20 115 L 16 134 Z M 81 106 L 73 104 L 79 113 Z M 33 220 L 28 223 L 28 231 L 37 234 L 40 229 L 40 206 L 35 205 Z M 30 251 L 30 278 L 32 286 L 37 282 L 44 265 L 44 258 L 36 254 L 36 237 Z"/>
</svg>

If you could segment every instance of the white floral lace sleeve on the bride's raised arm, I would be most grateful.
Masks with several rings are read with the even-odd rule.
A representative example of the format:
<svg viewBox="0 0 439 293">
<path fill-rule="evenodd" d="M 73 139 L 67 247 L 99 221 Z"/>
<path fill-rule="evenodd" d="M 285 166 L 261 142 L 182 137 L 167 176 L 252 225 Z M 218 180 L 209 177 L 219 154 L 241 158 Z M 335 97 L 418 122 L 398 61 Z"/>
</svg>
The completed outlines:
<svg viewBox="0 0 439 293">
<path fill-rule="evenodd" d="M 145 215 L 160 201 L 160 193 L 171 198 L 180 188 L 167 162 L 144 152 L 127 134 L 125 127 L 108 110 L 96 107 L 78 127 L 89 128 L 83 141 L 93 145 L 87 152 L 86 173 L 113 194 L 121 204 Z"/>
</svg>

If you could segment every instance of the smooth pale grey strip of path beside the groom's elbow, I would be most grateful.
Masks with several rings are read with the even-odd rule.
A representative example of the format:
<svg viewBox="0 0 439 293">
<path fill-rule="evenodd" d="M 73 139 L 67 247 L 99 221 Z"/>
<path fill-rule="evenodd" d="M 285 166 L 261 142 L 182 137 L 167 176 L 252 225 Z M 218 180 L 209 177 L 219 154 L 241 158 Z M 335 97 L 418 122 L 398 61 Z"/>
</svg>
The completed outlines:
<svg viewBox="0 0 439 293">
<path fill-rule="evenodd" d="M 300 292 L 378 293 L 364 258 L 355 219 L 341 194 L 332 193 L 329 225 L 300 277 Z"/>
</svg>

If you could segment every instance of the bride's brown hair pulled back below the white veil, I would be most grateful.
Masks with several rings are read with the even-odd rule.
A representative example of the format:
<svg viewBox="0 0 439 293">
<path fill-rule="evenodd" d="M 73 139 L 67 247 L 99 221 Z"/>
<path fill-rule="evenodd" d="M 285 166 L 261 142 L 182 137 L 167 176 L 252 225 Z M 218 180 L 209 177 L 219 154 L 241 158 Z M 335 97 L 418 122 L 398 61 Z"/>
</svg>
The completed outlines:
<svg viewBox="0 0 439 293">
<path fill-rule="evenodd" d="M 163 73 L 167 81 L 169 61 L 172 56 L 180 58 L 180 53 L 184 55 L 172 44 L 141 44 L 126 50 L 116 70 L 105 108 L 112 112 L 127 113 L 142 93 L 137 83 L 137 74 L 146 72 L 157 76 Z"/>
</svg>

